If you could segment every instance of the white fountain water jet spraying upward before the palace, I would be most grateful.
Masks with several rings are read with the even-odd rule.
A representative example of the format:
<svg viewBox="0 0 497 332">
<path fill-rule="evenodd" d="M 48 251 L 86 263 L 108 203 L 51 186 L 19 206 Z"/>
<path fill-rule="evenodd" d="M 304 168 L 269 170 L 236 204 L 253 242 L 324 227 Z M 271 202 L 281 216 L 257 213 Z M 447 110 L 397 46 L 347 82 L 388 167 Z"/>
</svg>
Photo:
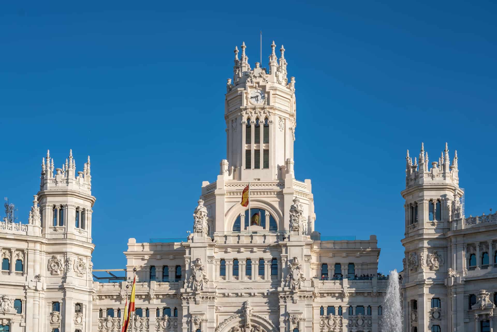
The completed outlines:
<svg viewBox="0 0 497 332">
<path fill-rule="evenodd" d="M 402 307 L 400 298 L 399 273 L 390 271 L 387 294 L 383 304 L 383 331 L 402 332 Z"/>
</svg>

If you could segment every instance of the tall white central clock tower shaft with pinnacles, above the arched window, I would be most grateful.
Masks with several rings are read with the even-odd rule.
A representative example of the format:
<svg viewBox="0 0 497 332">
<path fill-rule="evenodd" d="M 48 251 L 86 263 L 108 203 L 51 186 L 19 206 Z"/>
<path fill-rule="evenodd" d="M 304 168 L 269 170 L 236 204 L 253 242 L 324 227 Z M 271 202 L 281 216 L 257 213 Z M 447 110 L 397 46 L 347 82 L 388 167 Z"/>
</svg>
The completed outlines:
<svg viewBox="0 0 497 332">
<path fill-rule="evenodd" d="M 281 46 L 278 62 L 272 42 L 267 70 L 258 62 L 250 68 L 245 43 L 241 48 L 239 59 L 235 47 L 225 102 L 229 172 L 240 181 L 293 178 L 295 77 L 287 78 L 285 49 Z"/>
</svg>

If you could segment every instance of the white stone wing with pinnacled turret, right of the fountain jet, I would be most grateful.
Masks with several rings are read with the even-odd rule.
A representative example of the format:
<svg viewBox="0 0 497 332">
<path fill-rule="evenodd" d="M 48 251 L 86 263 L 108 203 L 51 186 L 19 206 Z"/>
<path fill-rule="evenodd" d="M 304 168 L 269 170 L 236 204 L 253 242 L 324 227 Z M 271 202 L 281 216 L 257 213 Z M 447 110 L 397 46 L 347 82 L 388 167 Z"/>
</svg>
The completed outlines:
<svg viewBox="0 0 497 332">
<path fill-rule="evenodd" d="M 465 217 L 457 151 L 407 155 L 403 300 L 406 332 L 488 332 L 496 326 L 497 213 Z"/>
</svg>

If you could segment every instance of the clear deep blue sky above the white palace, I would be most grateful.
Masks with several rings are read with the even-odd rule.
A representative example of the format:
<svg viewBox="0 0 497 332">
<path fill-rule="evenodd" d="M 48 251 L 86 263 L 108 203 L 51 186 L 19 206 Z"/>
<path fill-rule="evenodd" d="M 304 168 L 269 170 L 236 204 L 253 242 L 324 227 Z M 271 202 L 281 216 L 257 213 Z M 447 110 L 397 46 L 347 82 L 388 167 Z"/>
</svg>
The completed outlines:
<svg viewBox="0 0 497 332">
<path fill-rule="evenodd" d="M 459 155 L 467 214 L 497 208 L 493 1 L 14 1 L 0 4 L 0 196 L 27 221 L 50 149 L 91 156 L 94 268 L 128 238 L 185 236 L 202 181 L 226 157 L 233 49 L 296 77 L 295 170 L 316 229 L 378 236 L 402 269 L 406 149 Z M 240 47 L 239 47 L 240 48 Z"/>
</svg>

